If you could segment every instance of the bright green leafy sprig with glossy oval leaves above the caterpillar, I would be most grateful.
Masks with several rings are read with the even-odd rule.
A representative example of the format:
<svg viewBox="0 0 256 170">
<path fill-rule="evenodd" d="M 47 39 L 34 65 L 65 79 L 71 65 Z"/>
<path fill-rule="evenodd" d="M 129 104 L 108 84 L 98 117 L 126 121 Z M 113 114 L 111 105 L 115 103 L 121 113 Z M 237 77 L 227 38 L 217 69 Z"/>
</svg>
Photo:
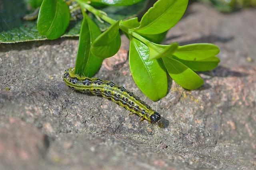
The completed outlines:
<svg viewBox="0 0 256 170">
<path fill-rule="evenodd" d="M 182 18 L 188 0 L 158 0 L 140 21 L 138 18 L 114 20 L 92 5 L 96 2 L 125 6 L 141 0 L 71 1 L 80 6 L 83 14 L 75 65 L 75 73 L 80 76 L 93 76 L 104 58 L 118 52 L 121 44 L 119 30 L 130 39 L 129 63 L 132 77 L 140 90 L 154 101 L 167 93 L 166 71 L 177 84 L 192 90 L 204 83 L 194 71 L 211 70 L 220 62 L 216 57 L 219 48 L 213 44 L 159 44 L 166 32 Z M 88 12 L 110 23 L 110 27 L 101 33 L 88 17 Z M 56 39 L 66 31 L 69 19 L 68 5 L 63 0 L 43 0 L 38 15 L 38 31 L 48 39 Z"/>
</svg>

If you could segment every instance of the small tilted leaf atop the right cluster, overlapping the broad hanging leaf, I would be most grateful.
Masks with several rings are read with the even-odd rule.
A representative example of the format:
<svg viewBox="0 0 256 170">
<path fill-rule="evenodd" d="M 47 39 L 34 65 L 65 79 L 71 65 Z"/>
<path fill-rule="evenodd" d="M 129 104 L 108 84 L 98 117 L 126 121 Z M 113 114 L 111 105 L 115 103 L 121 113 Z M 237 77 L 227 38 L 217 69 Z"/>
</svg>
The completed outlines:
<svg viewBox="0 0 256 170">
<path fill-rule="evenodd" d="M 178 49 L 179 44 L 172 43 L 170 45 L 159 45 L 159 44 L 151 43 L 151 45 L 153 46 L 149 46 L 150 60 L 171 56 Z"/>
</svg>

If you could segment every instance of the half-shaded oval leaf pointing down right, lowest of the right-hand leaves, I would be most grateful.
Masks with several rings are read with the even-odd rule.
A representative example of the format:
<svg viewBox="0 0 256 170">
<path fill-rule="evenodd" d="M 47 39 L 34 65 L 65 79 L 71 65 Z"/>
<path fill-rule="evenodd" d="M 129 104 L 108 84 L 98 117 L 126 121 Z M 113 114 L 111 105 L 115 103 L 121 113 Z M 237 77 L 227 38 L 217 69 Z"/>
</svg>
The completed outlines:
<svg viewBox="0 0 256 170">
<path fill-rule="evenodd" d="M 163 57 L 162 60 L 169 75 L 183 88 L 193 90 L 204 84 L 204 80 L 202 80 L 200 76 L 186 65 L 180 63 L 180 61 L 177 61 L 172 57 Z"/>
</svg>

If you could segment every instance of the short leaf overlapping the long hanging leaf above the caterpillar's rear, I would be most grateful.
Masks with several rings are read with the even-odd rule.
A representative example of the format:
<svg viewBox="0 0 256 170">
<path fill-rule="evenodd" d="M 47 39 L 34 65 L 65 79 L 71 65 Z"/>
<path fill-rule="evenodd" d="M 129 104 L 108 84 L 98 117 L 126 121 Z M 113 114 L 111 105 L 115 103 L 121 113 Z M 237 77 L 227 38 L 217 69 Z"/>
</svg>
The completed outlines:
<svg viewBox="0 0 256 170">
<path fill-rule="evenodd" d="M 92 53 L 96 57 L 108 58 L 115 55 L 120 49 L 121 36 L 119 22 L 116 21 L 92 43 Z"/>
</svg>

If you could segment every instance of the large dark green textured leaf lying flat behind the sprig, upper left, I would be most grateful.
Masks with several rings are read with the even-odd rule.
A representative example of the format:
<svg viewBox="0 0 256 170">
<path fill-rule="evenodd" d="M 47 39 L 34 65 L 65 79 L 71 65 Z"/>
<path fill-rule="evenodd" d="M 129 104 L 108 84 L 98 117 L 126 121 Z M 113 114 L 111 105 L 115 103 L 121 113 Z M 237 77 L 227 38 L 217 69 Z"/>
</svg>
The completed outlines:
<svg viewBox="0 0 256 170">
<path fill-rule="evenodd" d="M 46 37 L 38 32 L 36 21 L 22 20 L 27 11 L 25 1 L 2 0 L 3 10 L 0 18 L 0 43 L 16 43 L 24 41 L 45 40 Z M 15 15 L 13 15 L 15 11 Z M 74 37 L 80 33 L 81 21 L 71 21 L 62 37 Z"/>
</svg>

